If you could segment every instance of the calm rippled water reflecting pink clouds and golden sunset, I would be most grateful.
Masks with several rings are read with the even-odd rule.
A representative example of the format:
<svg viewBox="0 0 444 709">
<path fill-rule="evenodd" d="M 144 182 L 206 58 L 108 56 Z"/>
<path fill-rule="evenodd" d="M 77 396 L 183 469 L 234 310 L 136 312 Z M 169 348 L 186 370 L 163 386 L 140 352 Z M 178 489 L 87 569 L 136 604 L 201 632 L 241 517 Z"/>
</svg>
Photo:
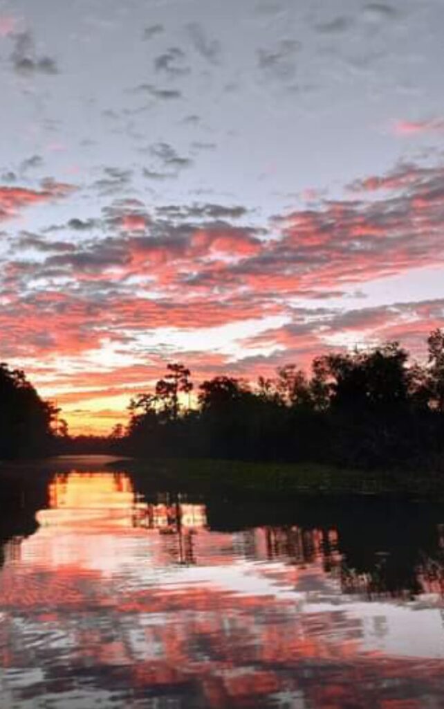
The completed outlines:
<svg viewBox="0 0 444 709">
<path fill-rule="evenodd" d="M 444 707 L 444 509 L 77 463 L 1 487 L 2 709 Z"/>
</svg>

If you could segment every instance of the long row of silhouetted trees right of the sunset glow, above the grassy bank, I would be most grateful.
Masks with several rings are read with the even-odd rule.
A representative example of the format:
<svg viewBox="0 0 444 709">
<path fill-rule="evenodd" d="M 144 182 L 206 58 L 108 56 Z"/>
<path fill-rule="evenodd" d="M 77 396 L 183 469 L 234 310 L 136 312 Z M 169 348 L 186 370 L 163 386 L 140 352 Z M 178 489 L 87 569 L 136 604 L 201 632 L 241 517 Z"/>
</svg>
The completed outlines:
<svg viewBox="0 0 444 709">
<path fill-rule="evenodd" d="M 444 331 L 428 337 L 425 364 L 390 342 L 317 357 L 309 375 L 290 364 L 254 386 L 216 376 L 195 388 L 189 369 L 169 364 L 132 399 L 113 445 L 140 457 L 423 465 L 444 453 Z"/>
</svg>

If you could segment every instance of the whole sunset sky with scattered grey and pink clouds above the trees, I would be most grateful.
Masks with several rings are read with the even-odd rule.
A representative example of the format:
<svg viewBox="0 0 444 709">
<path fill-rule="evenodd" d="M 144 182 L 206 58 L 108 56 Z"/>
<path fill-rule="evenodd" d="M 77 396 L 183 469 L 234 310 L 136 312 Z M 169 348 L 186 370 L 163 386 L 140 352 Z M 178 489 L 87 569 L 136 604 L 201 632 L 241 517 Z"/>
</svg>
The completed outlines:
<svg viewBox="0 0 444 709">
<path fill-rule="evenodd" d="M 0 0 L 0 360 L 73 433 L 444 325 L 442 0 Z"/>
</svg>

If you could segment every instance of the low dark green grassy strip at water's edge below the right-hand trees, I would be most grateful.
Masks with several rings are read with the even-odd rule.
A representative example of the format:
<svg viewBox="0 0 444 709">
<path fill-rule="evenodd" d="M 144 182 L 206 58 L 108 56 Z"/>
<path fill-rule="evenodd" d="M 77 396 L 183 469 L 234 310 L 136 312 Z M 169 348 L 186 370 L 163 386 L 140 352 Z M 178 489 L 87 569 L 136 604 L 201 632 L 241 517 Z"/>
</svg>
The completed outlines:
<svg viewBox="0 0 444 709">
<path fill-rule="evenodd" d="M 115 463 L 113 467 L 121 465 Z M 183 491 L 233 491 L 261 496 L 397 494 L 444 499 L 444 476 L 414 471 L 363 471 L 310 463 L 211 459 L 132 459 L 126 460 L 124 467 L 146 484 Z"/>
</svg>

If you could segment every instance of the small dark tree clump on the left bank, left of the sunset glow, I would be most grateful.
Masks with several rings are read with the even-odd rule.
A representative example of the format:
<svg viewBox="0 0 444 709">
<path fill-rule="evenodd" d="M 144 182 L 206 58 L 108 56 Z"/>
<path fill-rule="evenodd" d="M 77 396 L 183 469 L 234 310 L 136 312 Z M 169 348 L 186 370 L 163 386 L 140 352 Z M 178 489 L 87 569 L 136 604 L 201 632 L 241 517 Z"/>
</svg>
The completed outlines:
<svg viewBox="0 0 444 709">
<path fill-rule="evenodd" d="M 21 369 L 0 363 L 0 460 L 48 454 L 56 415 Z"/>
</svg>

